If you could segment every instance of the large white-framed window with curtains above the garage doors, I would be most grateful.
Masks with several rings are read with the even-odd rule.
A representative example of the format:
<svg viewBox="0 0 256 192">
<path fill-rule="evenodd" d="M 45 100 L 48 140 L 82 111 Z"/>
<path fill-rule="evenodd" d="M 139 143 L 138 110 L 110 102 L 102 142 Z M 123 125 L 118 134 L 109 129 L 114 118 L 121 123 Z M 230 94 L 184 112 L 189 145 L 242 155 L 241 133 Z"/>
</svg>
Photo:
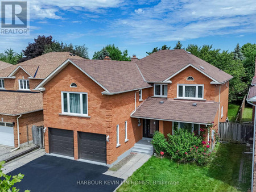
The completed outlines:
<svg viewBox="0 0 256 192">
<path fill-rule="evenodd" d="M 87 93 L 61 92 L 62 113 L 88 116 Z"/>
</svg>

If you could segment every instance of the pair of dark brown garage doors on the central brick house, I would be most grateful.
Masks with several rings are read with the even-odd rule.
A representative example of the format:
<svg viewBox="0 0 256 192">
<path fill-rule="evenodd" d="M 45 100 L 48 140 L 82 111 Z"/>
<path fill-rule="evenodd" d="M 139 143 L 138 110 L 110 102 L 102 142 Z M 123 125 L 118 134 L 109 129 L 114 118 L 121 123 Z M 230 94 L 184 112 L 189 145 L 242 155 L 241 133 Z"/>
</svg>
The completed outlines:
<svg viewBox="0 0 256 192">
<path fill-rule="evenodd" d="M 74 156 L 74 135 L 71 130 L 48 128 L 49 153 Z M 106 163 L 106 135 L 77 132 L 79 158 Z"/>
</svg>

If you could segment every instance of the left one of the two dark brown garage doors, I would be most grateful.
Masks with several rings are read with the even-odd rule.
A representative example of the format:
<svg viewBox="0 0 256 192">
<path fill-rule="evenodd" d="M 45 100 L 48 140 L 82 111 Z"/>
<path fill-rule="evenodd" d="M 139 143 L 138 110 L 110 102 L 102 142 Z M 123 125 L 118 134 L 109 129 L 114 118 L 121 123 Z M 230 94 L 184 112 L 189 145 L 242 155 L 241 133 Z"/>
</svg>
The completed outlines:
<svg viewBox="0 0 256 192">
<path fill-rule="evenodd" d="M 73 131 L 48 128 L 49 153 L 56 153 L 65 156 L 74 156 Z"/>
</svg>

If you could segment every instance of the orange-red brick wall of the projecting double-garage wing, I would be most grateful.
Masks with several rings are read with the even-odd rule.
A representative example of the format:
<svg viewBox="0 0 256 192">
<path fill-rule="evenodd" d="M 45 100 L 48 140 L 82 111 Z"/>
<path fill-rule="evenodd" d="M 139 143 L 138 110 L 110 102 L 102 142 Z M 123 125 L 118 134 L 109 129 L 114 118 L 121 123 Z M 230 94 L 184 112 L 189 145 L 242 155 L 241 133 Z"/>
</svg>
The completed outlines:
<svg viewBox="0 0 256 192">
<path fill-rule="evenodd" d="M 72 82 L 77 84 L 77 88 L 70 87 Z M 78 158 L 77 131 L 110 136 L 110 142 L 107 143 L 108 164 L 117 160 L 119 155 L 133 147 L 135 141 L 142 138 L 142 126 L 137 128 L 138 120 L 130 118 L 135 108 L 135 91 L 118 95 L 102 95 L 101 92 L 104 90 L 72 64 L 64 68 L 44 87 L 46 87 L 43 93 L 44 126 L 74 131 L 75 159 Z M 90 118 L 59 115 L 61 113 L 61 91 L 88 93 Z M 143 90 L 143 98 L 146 97 L 147 90 Z M 139 93 L 137 93 L 138 105 Z M 126 120 L 129 141 L 124 143 Z M 121 144 L 118 148 L 116 148 L 117 124 L 119 124 L 119 143 Z M 48 132 L 46 132 L 45 144 L 46 152 L 49 152 Z"/>
</svg>

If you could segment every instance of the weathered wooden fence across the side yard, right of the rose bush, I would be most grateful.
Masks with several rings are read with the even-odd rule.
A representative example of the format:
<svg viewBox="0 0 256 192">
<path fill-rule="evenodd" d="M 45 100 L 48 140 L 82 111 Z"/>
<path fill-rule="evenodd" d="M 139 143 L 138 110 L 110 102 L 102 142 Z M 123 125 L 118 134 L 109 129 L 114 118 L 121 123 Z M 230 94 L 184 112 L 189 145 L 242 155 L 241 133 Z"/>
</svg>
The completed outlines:
<svg viewBox="0 0 256 192">
<path fill-rule="evenodd" d="M 218 133 L 221 141 L 251 143 L 250 137 L 253 138 L 253 124 L 220 123 Z"/>
</svg>

